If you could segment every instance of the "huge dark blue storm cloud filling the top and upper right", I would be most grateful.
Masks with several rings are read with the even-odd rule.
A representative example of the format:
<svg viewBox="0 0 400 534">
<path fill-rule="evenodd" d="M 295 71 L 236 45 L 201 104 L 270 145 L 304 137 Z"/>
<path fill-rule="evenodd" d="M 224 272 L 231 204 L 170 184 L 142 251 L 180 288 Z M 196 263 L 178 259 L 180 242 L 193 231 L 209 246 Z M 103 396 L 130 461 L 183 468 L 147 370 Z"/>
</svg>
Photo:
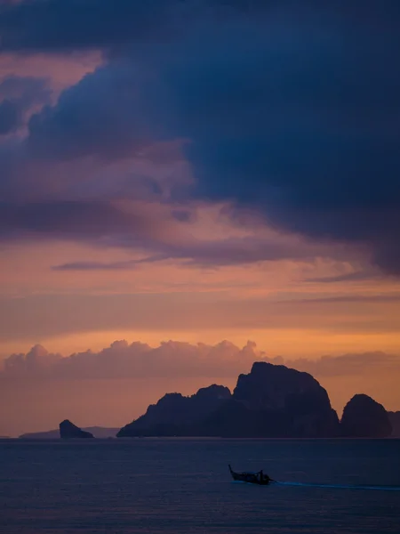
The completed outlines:
<svg viewBox="0 0 400 534">
<path fill-rule="evenodd" d="M 6 49 L 112 49 L 32 117 L 28 147 L 42 158 L 118 158 L 186 139 L 191 194 L 251 206 L 284 231 L 361 244 L 399 274 L 398 2 L 255 2 L 244 16 L 245 4 L 228 3 L 236 14 L 223 24 L 202 2 L 4 8 Z"/>
</svg>

